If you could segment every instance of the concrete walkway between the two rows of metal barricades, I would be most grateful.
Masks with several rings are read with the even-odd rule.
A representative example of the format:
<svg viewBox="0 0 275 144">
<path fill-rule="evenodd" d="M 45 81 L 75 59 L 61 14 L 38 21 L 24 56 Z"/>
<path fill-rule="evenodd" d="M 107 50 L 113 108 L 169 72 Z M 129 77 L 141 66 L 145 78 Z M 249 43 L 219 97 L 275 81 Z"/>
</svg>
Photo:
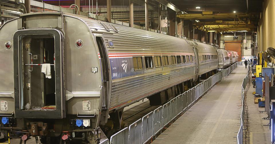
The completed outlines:
<svg viewBox="0 0 275 144">
<path fill-rule="evenodd" d="M 160 144 L 235 144 L 239 129 L 241 83 L 247 69 L 238 66 L 225 80 L 216 84 L 188 114 L 180 117 L 159 135 Z M 168 131 L 170 130 L 170 131 Z"/>
</svg>

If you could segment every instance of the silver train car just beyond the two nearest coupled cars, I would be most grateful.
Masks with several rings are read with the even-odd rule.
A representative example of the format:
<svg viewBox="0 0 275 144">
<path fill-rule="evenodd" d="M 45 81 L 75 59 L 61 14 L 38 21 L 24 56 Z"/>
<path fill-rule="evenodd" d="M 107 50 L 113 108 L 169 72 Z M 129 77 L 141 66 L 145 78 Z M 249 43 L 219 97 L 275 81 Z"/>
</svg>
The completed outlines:
<svg viewBox="0 0 275 144">
<path fill-rule="evenodd" d="M 219 57 L 219 69 L 224 69 L 230 66 L 230 56 L 226 50 L 217 49 Z"/>
</svg>

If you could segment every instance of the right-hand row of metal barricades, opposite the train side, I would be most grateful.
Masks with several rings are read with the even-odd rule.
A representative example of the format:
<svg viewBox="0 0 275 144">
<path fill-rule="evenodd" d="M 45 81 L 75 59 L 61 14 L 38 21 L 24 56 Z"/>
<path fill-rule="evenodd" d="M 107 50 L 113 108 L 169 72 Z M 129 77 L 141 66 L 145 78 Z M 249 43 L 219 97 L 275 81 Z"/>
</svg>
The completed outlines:
<svg viewBox="0 0 275 144">
<path fill-rule="evenodd" d="M 247 64 L 248 65 L 248 72 L 247 72 L 247 75 L 245 76 L 245 78 L 243 78 L 243 82 L 241 84 L 241 116 L 240 116 L 240 128 L 239 128 L 239 131 L 237 133 L 237 144 L 243 144 L 243 126 L 244 126 L 244 108 L 245 108 L 245 105 L 244 105 L 244 98 L 245 98 L 245 91 L 246 91 L 246 88 L 247 88 L 247 84 L 249 83 L 250 81 L 250 64 Z"/>
</svg>

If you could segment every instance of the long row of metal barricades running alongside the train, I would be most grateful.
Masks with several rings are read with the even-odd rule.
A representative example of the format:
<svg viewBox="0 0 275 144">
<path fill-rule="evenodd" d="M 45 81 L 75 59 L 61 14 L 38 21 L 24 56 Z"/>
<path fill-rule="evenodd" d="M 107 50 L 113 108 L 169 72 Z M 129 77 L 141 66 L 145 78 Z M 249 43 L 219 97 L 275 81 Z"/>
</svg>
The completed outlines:
<svg viewBox="0 0 275 144">
<path fill-rule="evenodd" d="M 153 140 L 158 133 L 162 132 L 162 129 L 172 124 L 174 119 L 193 106 L 212 86 L 228 76 L 238 65 L 239 62 L 220 70 L 217 74 L 135 121 L 129 127 L 115 133 L 110 138 L 110 144 L 144 144 Z"/>
</svg>

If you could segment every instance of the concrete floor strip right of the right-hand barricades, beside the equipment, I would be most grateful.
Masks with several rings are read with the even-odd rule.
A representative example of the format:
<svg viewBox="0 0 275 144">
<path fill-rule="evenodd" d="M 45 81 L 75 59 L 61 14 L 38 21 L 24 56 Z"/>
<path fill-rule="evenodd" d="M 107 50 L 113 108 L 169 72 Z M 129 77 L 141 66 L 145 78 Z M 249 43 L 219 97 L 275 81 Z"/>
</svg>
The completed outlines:
<svg viewBox="0 0 275 144">
<path fill-rule="evenodd" d="M 251 80 L 250 80 L 251 82 Z M 248 120 L 247 120 L 247 127 L 246 140 L 243 141 L 244 144 L 270 144 L 271 143 L 271 131 L 269 126 L 264 126 L 269 123 L 269 119 L 265 120 L 262 119 L 263 117 L 267 117 L 267 113 L 263 112 L 260 113 L 259 111 L 264 111 L 264 108 L 259 108 L 258 104 L 254 104 L 254 95 L 252 94 L 255 92 L 255 88 L 253 88 L 252 83 L 246 92 L 246 106 L 248 111 Z M 245 138 L 245 135 L 244 135 Z"/>
</svg>

